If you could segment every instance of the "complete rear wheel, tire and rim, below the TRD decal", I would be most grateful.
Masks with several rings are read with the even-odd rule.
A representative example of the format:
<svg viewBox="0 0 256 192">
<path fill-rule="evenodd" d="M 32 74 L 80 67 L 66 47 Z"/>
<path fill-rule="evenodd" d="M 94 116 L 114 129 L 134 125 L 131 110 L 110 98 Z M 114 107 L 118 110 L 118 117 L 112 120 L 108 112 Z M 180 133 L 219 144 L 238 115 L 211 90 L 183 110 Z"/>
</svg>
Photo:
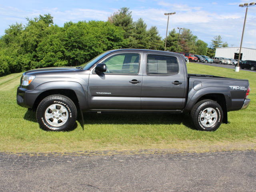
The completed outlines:
<svg viewBox="0 0 256 192">
<path fill-rule="evenodd" d="M 195 104 L 190 112 L 192 122 L 197 130 L 215 131 L 223 119 L 221 106 L 213 100 L 202 100 Z"/>
</svg>

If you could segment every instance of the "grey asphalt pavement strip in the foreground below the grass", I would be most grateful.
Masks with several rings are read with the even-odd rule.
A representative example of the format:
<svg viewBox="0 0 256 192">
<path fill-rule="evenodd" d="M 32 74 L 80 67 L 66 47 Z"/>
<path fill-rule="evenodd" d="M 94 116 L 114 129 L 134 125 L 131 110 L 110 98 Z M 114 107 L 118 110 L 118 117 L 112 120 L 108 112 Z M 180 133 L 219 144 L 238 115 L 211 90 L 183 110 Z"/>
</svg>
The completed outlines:
<svg viewBox="0 0 256 192">
<path fill-rule="evenodd" d="M 255 192 L 256 151 L 0 153 L 0 191 Z"/>
</svg>

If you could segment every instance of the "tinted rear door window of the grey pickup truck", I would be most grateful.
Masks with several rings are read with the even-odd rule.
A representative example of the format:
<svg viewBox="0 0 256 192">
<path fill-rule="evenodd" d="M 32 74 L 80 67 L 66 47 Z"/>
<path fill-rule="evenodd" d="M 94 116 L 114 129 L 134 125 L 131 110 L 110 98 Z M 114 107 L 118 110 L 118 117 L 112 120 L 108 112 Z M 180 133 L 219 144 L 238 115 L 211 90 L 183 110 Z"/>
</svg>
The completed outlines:
<svg viewBox="0 0 256 192">
<path fill-rule="evenodd" d="M 178 60 L 172 56 L 148 55 L 147 74 L 178 74 Z"/>
</svg>

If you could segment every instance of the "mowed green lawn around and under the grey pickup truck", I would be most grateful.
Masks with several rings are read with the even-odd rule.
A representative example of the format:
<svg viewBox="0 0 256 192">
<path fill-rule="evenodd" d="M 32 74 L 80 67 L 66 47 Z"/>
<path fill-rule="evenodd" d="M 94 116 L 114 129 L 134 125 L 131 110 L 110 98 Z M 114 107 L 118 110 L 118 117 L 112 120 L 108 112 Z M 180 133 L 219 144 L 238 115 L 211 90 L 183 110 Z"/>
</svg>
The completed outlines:
<svg viewBox="0 0 256 192">
<path fill-rule="evenodd" d="M 250 82 L 250 106 L 228 112 L 228 124 L 215 132 L 195 130 L 187 114 L 88 114 L 84 129 L 46 132 L 35 112 L 16 104 L 20 74 L 0 77 L 0 152 L 88 152 L 111 150 L 146 152 L 206 152 L 256 149 L 256 74 L 254 72 L 188 64 L 188 72 L 213 74 Z M 149 151 L 148 151 L 149 150 Z M 144 151 L 145 152 L 145 151 Z"/>
</svg>

